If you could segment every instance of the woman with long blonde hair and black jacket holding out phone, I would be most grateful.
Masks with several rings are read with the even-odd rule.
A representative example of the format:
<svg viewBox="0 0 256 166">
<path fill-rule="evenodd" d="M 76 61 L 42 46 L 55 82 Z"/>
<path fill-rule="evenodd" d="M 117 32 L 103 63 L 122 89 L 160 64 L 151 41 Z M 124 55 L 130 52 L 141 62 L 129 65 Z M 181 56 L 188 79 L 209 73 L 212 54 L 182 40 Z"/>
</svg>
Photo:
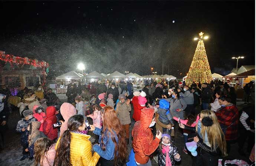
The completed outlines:
<svg viewBox="0 0 256 166">
<path fill-rule="evenodd" d="M 193 166 L 217 166 L 220 154 L 226 155 L 226 140 L 213 111 L 203 110 L 196 127 L 179 124 L 181 128 L 196 132 L 197 156 Z"/>
</svg>

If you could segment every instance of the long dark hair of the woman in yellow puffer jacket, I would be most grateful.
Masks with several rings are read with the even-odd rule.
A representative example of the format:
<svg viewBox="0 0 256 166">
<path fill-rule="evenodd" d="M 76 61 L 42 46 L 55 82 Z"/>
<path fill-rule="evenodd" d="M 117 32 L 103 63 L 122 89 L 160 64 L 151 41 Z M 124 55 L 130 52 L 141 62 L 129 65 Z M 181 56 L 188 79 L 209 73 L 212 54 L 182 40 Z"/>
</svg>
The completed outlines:
<svg viewBox="0 0 256 166">
<path fill-rule="evenodd" d="M 68 129 L 59 138 L 55 155 L 55 166 L 72 166 L 70 163 L 70 131 L 78 131 L 78 128 L 85 122 L 83 115 L 73 115 L 68 120 Z"/>
</svg>

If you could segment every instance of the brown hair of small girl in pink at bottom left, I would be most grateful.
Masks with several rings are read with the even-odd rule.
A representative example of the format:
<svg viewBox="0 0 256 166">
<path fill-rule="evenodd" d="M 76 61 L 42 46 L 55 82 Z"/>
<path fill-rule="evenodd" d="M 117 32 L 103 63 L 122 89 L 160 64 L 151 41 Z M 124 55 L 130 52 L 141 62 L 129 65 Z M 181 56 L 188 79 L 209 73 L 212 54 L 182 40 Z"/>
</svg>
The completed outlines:
<svg viewBox="0 0 256 166">
<path fill-rule="evenodd" d="M 53 145 L 53 141 L 47 137 L 39 138 L 35 142 L 34 152 L 35 152 L 35 163 L 34 166 L 43 166 L 43 161 L 46 160 L 49 165 L 51 163 L 46 158 L 49 148 Z"/>
</svg>

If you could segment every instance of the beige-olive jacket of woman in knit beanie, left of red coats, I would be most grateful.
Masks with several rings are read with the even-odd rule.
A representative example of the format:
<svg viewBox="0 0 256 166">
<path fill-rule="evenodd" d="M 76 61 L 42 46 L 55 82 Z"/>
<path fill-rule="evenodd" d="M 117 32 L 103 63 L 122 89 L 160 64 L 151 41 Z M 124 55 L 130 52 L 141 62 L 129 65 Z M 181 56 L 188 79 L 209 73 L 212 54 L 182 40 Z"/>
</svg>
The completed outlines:
<svg viewBox="0 0 256 166">
<path fill-rule="evenodd" d="M 130 112 L 132 108 L 131 104 L 127 105 L 126 101 L 127 100 L 125 100 L 124 103 L 121 103 L 121 101 L 119 101 L 116 104 L 116 115 L 122 125 L 131 123 Z"/>
</svg>

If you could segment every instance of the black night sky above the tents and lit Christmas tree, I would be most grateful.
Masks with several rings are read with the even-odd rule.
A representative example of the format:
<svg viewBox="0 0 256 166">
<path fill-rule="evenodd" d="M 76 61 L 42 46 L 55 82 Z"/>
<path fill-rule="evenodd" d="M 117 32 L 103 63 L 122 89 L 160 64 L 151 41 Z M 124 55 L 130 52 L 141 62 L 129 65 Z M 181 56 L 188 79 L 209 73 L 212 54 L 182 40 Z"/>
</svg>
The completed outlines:
<svg viewBox="0 0 256 166">
<path fill-rule="evenodd" d="M 86 73 L 162 74 L 164 62 L 164 74 L 183 77 L 201 31 L 212 73 L 228 74 L 233 56 L 255 65 L 255 1 L 2 1 L 0 12 L 0 50 L 45 60 L 51 75 L 79 62 Z"/>
</svg>

